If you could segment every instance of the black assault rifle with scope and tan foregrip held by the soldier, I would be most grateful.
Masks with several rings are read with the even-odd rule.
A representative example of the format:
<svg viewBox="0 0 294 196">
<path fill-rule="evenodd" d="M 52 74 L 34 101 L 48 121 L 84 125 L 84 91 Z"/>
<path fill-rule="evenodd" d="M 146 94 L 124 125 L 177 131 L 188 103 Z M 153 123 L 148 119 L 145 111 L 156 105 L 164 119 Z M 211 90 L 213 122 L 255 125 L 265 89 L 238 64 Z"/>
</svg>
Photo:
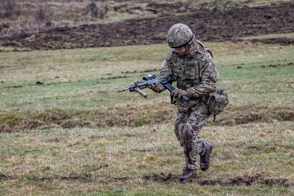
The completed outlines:
<svg viewBox="0 0 294 196">
<path fill-rule="evenodd" d="M 154 86 L 155 83 L 161 83 L 163 86 L 165 86 L 168 91 L 173 92 L 175 90 L 175 88 L 171 85 L 175 80 L 175 78 L 173 77 L 173 74 L 167 73 L 161 77 L 156 77 L 154 74 L 148 74 L 147 76 L 143 77 L 143 80 L 145 82 L 135 82 L 134 84 L 132 84 L 132 86 L 130 86 L 129 88 L 125 88 L 125 89 L 121 89 L 118 90 L 118 93 L 129 90 L 130 92 L 136 92 L 139 93 L 140 95 L 142 95 L 145 99 L 147 99 L 147 94 L 144 93 L 143 91 L 141 91 L 144 88 L 150 88 L 152 89 L 152 87 Z M 183 96 L 182 98 L 189 100 L 188 97 Z M 171 95 L 171 103 L 173 103 L 173 96 Z"/>
</svg>

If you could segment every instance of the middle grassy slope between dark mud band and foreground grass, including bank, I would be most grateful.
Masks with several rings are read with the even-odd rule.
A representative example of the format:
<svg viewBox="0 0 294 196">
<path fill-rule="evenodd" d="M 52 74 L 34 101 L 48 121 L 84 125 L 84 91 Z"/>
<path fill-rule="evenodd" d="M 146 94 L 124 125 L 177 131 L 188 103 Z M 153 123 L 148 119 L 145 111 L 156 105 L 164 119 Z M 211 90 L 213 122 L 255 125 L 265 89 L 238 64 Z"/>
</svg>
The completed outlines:
<svg viewBox="0 0 294 196">
<path fill-rule="evenodd" d="M 231 101 L 218 122 L 294 119 L 293 46 L 205 44 L 214 52 L 218 86 Z M 143 75 L 157 75 L 168 51 L 154 45 L 2 53 L 1 130 L 50 128 L 51 123 L 71 128 L 171 122 L 176 108 L 167 91 L 145 89 L 147 100 L 137 93 L 117 93 Z"/>
</svg>

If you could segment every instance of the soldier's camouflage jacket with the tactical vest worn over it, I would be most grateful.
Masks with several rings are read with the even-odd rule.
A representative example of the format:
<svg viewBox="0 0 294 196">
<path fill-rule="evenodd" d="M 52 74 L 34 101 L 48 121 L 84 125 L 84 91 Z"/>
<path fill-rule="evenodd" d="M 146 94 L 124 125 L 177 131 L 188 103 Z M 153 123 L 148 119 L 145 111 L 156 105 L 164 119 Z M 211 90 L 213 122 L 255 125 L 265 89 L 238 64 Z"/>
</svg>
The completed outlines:
<svg viewBox="0 0 294 196">
<path fill-rule="evenodd" d="M 185 61 L 181 68 L 175 70 L 174 76 L 177 88 L 188 91 L 188 96 L 201 97 L 216 89 L 219 79 L 218 71 L 214 65 L 210 50 L 198 40 L 193 40 L 193 49 L 188 56 L 178 56 L 172 49 L 164 58 L 159 76 L 172 71 L 181 62 Z"/>
</svg>

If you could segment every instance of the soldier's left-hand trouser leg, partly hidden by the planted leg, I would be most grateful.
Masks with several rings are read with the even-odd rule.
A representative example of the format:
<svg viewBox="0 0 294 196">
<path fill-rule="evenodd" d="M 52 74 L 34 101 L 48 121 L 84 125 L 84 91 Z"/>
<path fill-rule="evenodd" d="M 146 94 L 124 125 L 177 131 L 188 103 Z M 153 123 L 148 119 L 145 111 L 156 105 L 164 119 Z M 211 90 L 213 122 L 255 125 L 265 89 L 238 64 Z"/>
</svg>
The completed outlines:
<svg viewBox="0 0 294 196">
<path fill-rule="evenodd" d="M 175 134 L 180 141 L 180 145 L 183 146 L 183 130 L 184 126 L 190 116 L 190 112 L 180 112 L 177 113 L 177 118 L 175 120 Z"/>
</svg>

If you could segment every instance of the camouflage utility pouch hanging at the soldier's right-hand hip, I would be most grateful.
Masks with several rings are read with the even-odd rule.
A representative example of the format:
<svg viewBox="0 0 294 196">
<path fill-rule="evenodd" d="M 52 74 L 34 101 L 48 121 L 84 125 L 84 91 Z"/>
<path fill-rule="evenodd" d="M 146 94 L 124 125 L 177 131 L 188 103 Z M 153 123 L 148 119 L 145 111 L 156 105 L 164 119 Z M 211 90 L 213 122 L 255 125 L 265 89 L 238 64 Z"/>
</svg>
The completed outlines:
<svg viewBox="0 0 294 196">
<path fill-rule="evenodd" d="M 217 88 L 216 92 L 208 94 L 207 113 L 219 115 L 229 102 L 228 94 L 224 91 L 224 89 Z"/>
</svg>

